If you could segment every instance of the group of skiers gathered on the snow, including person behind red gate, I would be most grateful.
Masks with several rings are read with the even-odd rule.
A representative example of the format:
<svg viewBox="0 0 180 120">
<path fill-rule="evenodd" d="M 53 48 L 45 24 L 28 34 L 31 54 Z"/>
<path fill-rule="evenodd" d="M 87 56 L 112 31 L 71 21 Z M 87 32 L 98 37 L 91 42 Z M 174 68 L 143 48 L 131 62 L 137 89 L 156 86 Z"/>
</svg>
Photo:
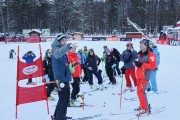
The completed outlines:
<svg viewBox="0 0 180 120">
<path fill-rule="evenodd" d="M 93 49 L 80 49 L 76 52 L 77 44 L 67 44 L 64 34 L 59 34 L 51 44 L 52 49 L 46 50 L 43 59 L 44 73 L 46 82 L 54 81 L 55 84 L 47 84 L 47 96 L 51 98 L 51 93 L 56 87 L 59 100 L 54 112 L 54 120 L 67 120 L 67 107 L 70 101 L 75 101 L 80 91 L 80 82 L 82 73 L 82 82 L 88 81 L 90 88 L 94 89 L 93 75 L 98 80 L 98 88 L 103 89 L 102 70 L 99 65 L 105 64 L 104 69 L 110 80 L 109 84 L 116 84 L 116 77 L 125 74 L 126 89 L 124 91 L 133 91 L 137 88 L 137 95 L 140 101 L 138 110 L 140 114 L 149 111 L 146 91 L 157 93 L 156 72 L 160 64 L 160 54 L 155 44 L 143 39 L 140 42 L 140 51 L 134 50 L 132 43 L 126 44 L 127 49 L 120 54 L 116 49 L 109 49 L 104 46 L 102 58 L 98 57 Z M 27 63 L 33 62 L 35 54 L 32 51 L 27 52 L 23 59 Z M 119 63 L 124 66 L 119 69 Z M 131 78 L 133 83 L 131 82 Z M 70 82 L 71 81 L 71 82 Z M 70 93 L 70 83 L 72 92 Z M 28 84 L 34 84 L 32 79 Z M 134 84 L 134 87 L 133 87 Z M 71 94 L 71 95 L 70 95 Z"/>
</svg>

